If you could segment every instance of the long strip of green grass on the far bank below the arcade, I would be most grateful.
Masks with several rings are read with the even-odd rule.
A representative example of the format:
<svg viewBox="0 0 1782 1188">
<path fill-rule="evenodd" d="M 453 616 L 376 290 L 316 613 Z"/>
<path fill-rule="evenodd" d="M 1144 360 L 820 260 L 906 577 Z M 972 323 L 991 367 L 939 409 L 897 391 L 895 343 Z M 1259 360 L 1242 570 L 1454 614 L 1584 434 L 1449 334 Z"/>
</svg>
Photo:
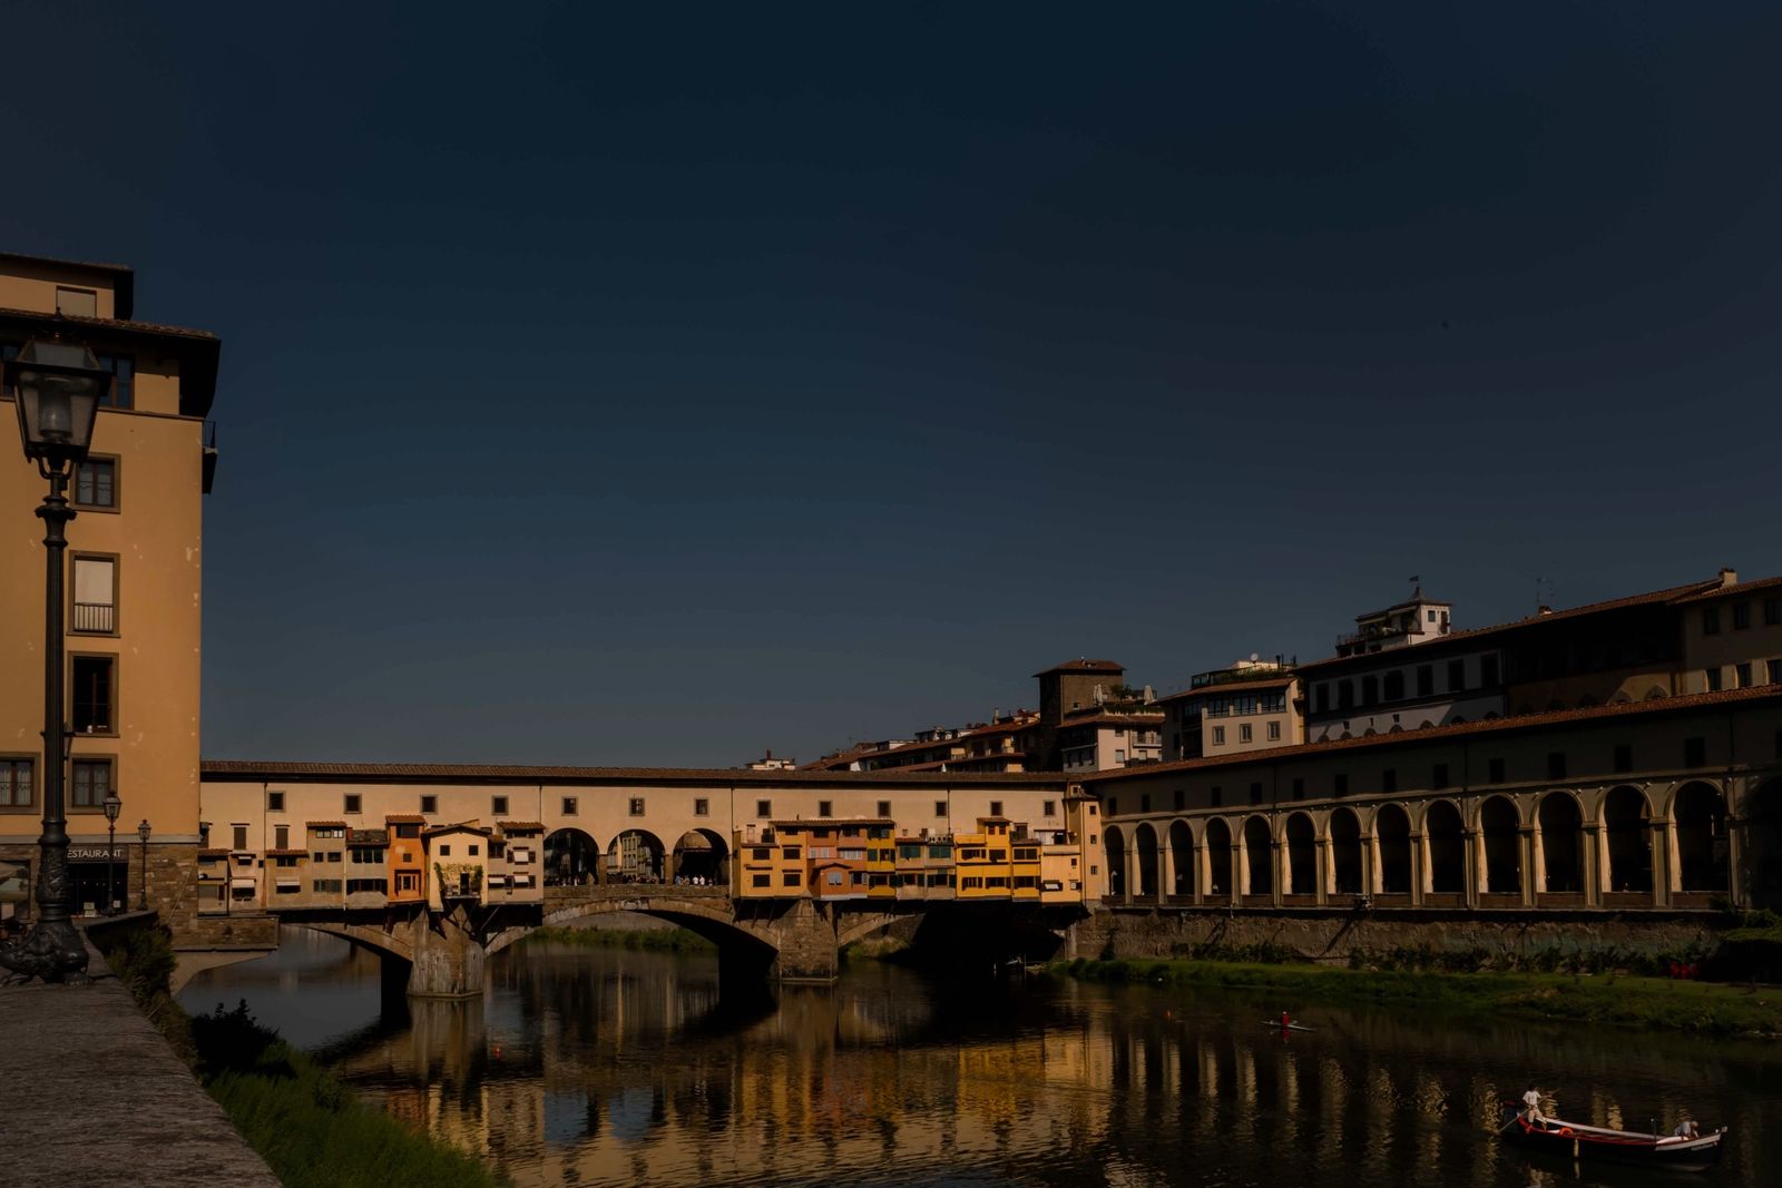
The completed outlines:
<svg viewBox="0 0 1782 1188">
<path fill-rule="evenodd" d="M 1269 1013 L 1306 1003 L 1370 1003 L 1704 1035 L 1782 1038 L 1782 989 L 1618 972 L 1438 972 L 1226 960 L 1083 960 L 1051 965 L 1087 981 L 1258 990 Z"/>
</svg>

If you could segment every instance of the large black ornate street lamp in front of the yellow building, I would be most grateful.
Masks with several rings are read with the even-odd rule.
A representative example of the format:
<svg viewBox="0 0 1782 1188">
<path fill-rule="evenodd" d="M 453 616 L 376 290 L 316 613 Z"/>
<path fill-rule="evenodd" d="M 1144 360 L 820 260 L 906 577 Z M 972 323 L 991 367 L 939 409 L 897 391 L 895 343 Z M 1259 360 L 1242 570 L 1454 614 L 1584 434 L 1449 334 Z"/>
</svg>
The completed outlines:
<svg viewBox="0 0 1782 1188">
<path fill-rule="evenodd" d="M 37 837 L 37 921 L 21 940 L 0 946 L 0 965 L 18 980 L 87 980 L 87 946 L 69 923 L 73 887 L 68 882 L 68 818 L 64 816 L 62 727 L 62 556 L 64 529 L 75 518 L 68 506 L 68 477 L 86 460 L 93 442 L 93 419 L 110 372 L 93 351 L 61 338 L 30 340 L 16 358 L 5 360 L 5 385 L 12 388 L 18 431 L 25 458 L 50 481 L 50 493 L 37 508 L 45 552 L 45 647 L 43 647 L 43 835 Z"/>
</svg>

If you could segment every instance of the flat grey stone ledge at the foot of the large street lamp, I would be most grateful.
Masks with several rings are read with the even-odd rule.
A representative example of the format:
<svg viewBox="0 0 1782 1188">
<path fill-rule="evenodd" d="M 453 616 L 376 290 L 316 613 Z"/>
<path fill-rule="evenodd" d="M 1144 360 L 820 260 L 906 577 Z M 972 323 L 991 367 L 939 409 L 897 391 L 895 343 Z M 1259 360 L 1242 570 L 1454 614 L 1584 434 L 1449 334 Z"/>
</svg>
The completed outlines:
<svg viewBox="0 0 1782 1188">
<path fill-rule="evenodd" d="M 278 1188 L 98 953 L 89 972 L 0 987 L 0 1184 Z"/>
</svg>

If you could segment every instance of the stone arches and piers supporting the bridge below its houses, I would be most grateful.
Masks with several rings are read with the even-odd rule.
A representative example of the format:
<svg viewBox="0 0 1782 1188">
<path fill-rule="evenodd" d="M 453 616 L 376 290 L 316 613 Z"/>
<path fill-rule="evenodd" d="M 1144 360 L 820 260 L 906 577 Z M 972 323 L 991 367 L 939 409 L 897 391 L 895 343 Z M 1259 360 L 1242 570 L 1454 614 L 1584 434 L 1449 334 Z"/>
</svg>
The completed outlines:
<svg viewBox="0 0 1782 1188">
<path fill-rule="evenodd" d="M 964 944 L 975 964 L 1044 960 L 1083 910 L 1055 905 L 973 901 L 732 899 L 727 887 L 574 885 L 545 887 L 544 903 L 426 905 L 381 908 L 287 908 L 280 923 L 340 937 L 383 960 L 388 990 L 426 997 L 481 994 L 485 964 L 545 926 L 634 912 L 686 928 L 718 949 L 725 981 L 818 981 L 836 978 L 845 946 L 898 923 L 918 944 Z"/>
</svg>

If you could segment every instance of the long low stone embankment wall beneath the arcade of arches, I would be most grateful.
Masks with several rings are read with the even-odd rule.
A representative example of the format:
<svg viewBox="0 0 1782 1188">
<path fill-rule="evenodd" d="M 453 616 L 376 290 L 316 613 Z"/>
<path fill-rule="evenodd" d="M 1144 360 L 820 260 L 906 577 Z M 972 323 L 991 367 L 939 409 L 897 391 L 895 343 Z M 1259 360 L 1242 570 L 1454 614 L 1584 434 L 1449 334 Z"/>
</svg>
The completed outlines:
<svg viewBox="0 0 1782 1188">
<path fill-rule="evenodd" d="M 1287 949 L 1347 964 L 1351 953 L 1424 948 L 1484 949 L 1509 956 L 1634 951 L 1682 953 L 1711 946 L 1714 921 L 1700 912 L 1228 912 L 1221 908 L 1101 910 L 1066 933 L 1066 958 L 1180 958 L 1206 949 Z"/>
</svg>

